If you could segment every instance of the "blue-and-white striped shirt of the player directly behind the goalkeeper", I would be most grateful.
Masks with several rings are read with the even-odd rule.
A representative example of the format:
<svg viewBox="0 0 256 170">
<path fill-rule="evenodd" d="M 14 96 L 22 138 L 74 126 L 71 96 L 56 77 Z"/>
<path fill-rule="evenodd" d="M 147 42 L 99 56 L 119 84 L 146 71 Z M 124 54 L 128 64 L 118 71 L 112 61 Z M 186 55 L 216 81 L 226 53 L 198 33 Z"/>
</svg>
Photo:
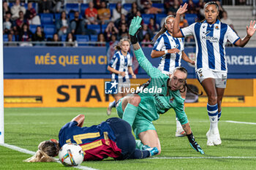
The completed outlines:
<svg viewBox="0 0 256 170">
<path fill-rule="evenodd" d="M 153 50 L 164 51 L 173 48 L 180 50 L 180 53 L 167 53 L 166 55 L 162 55 L 158 66 L 160 71 L 172 73 L 177 66 L 181 66 L 181 55 L 184 50 L 184 38 L 174 38 L 168 31 L 165 31 L 155 42 Z"/>
</svg>

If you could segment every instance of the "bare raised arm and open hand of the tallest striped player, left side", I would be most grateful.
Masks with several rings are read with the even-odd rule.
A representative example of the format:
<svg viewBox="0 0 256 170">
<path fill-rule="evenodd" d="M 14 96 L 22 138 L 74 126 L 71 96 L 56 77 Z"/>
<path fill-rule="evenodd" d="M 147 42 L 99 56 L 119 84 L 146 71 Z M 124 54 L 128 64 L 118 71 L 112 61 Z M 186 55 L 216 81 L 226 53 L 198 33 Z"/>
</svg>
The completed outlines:
<svg viewBox="0 0 256 170">
<path fill-rule="evenodd" d="M 185 12 L 187 12 L 187 3 L 185 3 L 183 6 L 179 7 L 178 11 L 176 12 L 176 18 L 175 18 L 174 24 L 173 24 L 173 36 L 174 37 L 184 37 L 178 26 L 179 26 L 179 23 L 181 22 L 181 15 L 183 15 Z"/>
</svg>

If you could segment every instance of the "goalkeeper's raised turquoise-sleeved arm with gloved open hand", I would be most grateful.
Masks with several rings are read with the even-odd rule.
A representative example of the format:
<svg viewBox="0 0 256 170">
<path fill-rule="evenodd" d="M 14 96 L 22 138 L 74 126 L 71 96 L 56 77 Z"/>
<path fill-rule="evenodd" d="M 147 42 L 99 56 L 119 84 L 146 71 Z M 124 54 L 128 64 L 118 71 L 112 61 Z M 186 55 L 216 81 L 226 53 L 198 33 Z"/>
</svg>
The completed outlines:
<svg viewBox="0 0 256 170">
<path fill-rule="evenodd" d="M 136 18 L 134 17 L 129 26 L 129 35 L 132 42 L 132 46 L 135 50 L 135 57 L 137 58 L 140 66 L 147 72 L 147 74 L 150 77 L 159 77 L 162 74 L 162 72 L 160 72 L 159 69 L 152 66 L 152 64 L 148 61 L 148 59 L 144 55 L 143 50 L 141 50 L 140 44 L 138 43 L 138 39 L 136 35 L 138 34 L 138 31 L 141 27 L 140 26 L 141 20 L 142 18 L 138 16 Z"/>
</svg>

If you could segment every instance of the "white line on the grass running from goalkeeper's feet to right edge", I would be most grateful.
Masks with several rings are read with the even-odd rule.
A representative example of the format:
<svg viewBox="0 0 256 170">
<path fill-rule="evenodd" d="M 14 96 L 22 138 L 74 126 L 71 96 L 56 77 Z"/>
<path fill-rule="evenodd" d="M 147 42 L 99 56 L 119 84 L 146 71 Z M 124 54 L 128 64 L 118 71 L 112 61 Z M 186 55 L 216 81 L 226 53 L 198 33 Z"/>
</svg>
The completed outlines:
<svg viewBox="0 0 256 170">
<path fill-rule="evenodd" d="M 222 156 L 222 157 L 154 157 L 148 159 L 246 159 L 246 158 L 256 158 L 252 156 Z"/>
</svg>

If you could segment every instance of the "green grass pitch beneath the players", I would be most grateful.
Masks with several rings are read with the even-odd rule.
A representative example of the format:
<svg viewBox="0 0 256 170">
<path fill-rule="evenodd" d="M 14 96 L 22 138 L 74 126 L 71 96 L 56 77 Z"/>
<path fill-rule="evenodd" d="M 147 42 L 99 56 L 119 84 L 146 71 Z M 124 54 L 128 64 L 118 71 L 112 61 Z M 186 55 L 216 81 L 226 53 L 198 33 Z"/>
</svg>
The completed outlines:
<svg viewBox="0 0 256 170">
<path fill-rule="evenodd" d="M 192 150 L 187 137 L 175 137 L 175 114 L 170 110 L 154 122 L 162 145 L 161 155 L 128 161 L 114 161 L 113 158 L 108 158 L 104 161 L 85 162 L 81 166 L 109 170 L 255 169 L 256 125 L 227 123 L 226 120 L 256 123 L 256 108 L 222 109 L 222 118 L 219 122 L 222 145 L 218 147 L 206 146 L 206 132 L 209 127 L 206 108 L 186 108 L 186 112 L 195 139 L 203 148 L 205 155 Z M 39 142 L 58 139 L 62 125 L 78 114 L 86 115 L 86 126 L 99 124 L 108 119 L 105 109 L 102 108 L 4 109 L 5 143 L 35 152 Z M 111 117 L 117 117 L 115 109 Z M 0 169 L 67 169 L 60 163 L 24 163 L 23 160 L 31 155 L 2 146 L 0 153 Z"/>
</svg>

